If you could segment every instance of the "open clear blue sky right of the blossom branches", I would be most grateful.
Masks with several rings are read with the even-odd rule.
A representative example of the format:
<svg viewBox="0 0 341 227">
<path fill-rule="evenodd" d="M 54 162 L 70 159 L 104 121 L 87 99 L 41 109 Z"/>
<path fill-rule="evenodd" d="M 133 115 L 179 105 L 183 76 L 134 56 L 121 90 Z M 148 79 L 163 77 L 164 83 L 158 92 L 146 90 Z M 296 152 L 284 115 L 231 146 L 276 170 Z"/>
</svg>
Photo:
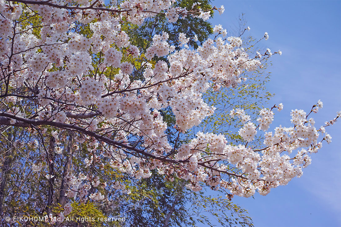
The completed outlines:
<svg viewBox="0 0 341 227">
<path fill-rule="evenodd" d="M 341 110 L 341 1 L 224 1 L 225 6 L 210 22 L 230 29 L 245 13 L 249 34 L 269 40 L 260 46 L 282 56 L 271 57 L 273 66 L 268 91 L 275 93 L 273 104 L 283 103 L 275 111 L 272 129 L 290 126 L 292 109 L 309 112 L 319 99 L 323 109 L 313 114 L 316 126 Z M 248 34 L 247 34 L 248 35 Z M 341 226 L 341 119 L 326 128 L 332 143 L 323 143 L 312 164 L 301 178 L 271 190 L 267 196 L 234 197 L 233 201 L 249 211 L 255 226 Z M 271 128 L 270 128 L 271 130 Z"/>
</svg>

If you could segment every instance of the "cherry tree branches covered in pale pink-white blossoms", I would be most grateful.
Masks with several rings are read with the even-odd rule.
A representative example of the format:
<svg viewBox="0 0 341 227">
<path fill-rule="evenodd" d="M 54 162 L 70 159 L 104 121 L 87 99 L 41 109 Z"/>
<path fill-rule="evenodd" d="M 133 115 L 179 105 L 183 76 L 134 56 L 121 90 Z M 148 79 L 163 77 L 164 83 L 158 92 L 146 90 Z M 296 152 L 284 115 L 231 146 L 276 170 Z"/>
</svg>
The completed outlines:
<svg viewBox="0 0 341 227">
<path fill-rule="evenodd" d="M 72 212 L 65 197 L 102 201 L 113 199 L 105 198 L 103 190 L 126 190 L 115 176 L 104 182 L 95 176 L 104 168 L 135 179 L 157 171 L 168 181 L 186 180 L 193 191 L 207 185 L 225 190 L 227 198 L 250 197 L 256 191 L 267 195 L 300 177 L 311 163 L 310 153 L 323 140 L 331 141 L 325 127 L 341 115 L 316 128 L 309 116 L 322 108 L 318 101 L 308 114 L 293 110 L 291 127 L 268 132 L 273 110 L 280 111 L 282 104 L 261 109 L 256 121 L 236 108 L 229 116 L 240 119 L 239 135 L 245 142 L 233 144 L 223 134 L 205 132 L 181 142 L 184 133 L 214 113 L 203 93 L 237 87 L 243 73 L 261 68 L 271 50 L 251 56 L 240 37 L 226 37 L 227 31 L 217 25 L 214 39 L 195 49 L 188 44 L 197 35 L 180 32 L 176 42 L 169 42 L 168 33 L 160 32 L 142 53 L 122 26 L 141 25 L 158 15 L 170 23 L 207 20 L 212 11 L 223 13 L 223 6 L 203 9 L 194 3 L 187 9 L 174 7 L 172 0 L 0 0 L 0 9 L 0 124 L 22 128 L 20 138 L 26 139 L 11 146 L 34 148 L 41 157 L 31 168 L 49 182 L 46 212 L 52 224 L 54 178 L 61 165 L 53 153 L 62 152 L 63 146 L 88 152 L 73 158 L 90 172 L 74 175 L 66 168 L 59 173 L 64 181 L 60 217 Z M 39 24 L 33 26 L 32 20 Z M 265 32 L 255 43 L 268 38 Z M 172 111 L 174 125 L 163 119 L 164 110 Z M 169 127 L 174 131 L 167 133 Z M 265 132 L 264 146 L 251 146 L 257 130 Z"/>
</svg>

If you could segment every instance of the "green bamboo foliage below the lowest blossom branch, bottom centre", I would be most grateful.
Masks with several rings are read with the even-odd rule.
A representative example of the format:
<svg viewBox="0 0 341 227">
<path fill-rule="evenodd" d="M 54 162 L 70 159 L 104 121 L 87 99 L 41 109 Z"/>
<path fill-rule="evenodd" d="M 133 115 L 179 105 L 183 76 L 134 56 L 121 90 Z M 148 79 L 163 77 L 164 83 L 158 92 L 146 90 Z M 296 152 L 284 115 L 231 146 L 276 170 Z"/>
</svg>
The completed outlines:
<svg viewBox="0 0 341 227">
<path fill-rule="evenodd" d="M 165 181 L 153 171 L 150 178 L 142 179 L 130 187 L 131 194 L 121 198 L 117 213 L 124 213 L 127 226 L 164 226 L 172 206 L 168 227 L 198 226 L 203 223 L 214 226 L 216 219 L 221 226 L 253 226 L 246 210 L 222 197 L 208 196 L 208 192 L 188 190 L 181 179 Z M 130 206 L 125 202 L 130 200 Z"/>
</svg>

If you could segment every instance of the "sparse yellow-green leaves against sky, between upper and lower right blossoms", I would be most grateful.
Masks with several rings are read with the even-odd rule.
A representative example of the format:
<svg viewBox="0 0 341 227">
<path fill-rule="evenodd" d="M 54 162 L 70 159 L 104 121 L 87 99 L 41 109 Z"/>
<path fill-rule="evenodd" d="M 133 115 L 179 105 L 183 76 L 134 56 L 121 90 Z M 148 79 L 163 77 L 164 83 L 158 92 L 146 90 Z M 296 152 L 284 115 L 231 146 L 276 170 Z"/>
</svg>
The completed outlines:
<svg viewBox="0 0 341 227">
<path fill-rule="evenodd" d="M 242 36 L 244 29 L 247 27 L 247 21 L 244 19 L 244 14 L 241 14 L 238 20 L 238 25 L 231 29 L 229 35 Z M 231 34 L 232 33 L 232 34 Z M 256 40 L 252 36 L 242 37 L 243 46 L 251 54 L 256 54 L 256 51 L 261 51 L 262 47 L 255 46 Z M 271 73 L 268 68 L 271 63 L 268 61 L 262 62 L 262 68 L 253 72 L 243 72 L 240 78 L 246 78 L 246 81 L 241 82 L 236 87 L 220 88 L 219 92 L 210 88 L 203 94 L 204 101 L 217 109 L 214 114 L 207 117 L 187 133 L 186 140 L 192 138 L 198 131 L 208 133 L 222 133 L 232 144 L 246 143 L 238 134 L 238 130 L 242 127 L 242 123 L 238 119 L 233 119 L 229 113 L 232 109 L 241 108 L 251 116 L 251 121 L 255 121 L 258 117 L 259 110 L 264 108 L 274 94 L 267 91 L 266 85 L 270 81 Z M 263 140 L 263 135 L 258 133 L 255 139 L 249 144 L 259 145 Z"/>
</svg>

